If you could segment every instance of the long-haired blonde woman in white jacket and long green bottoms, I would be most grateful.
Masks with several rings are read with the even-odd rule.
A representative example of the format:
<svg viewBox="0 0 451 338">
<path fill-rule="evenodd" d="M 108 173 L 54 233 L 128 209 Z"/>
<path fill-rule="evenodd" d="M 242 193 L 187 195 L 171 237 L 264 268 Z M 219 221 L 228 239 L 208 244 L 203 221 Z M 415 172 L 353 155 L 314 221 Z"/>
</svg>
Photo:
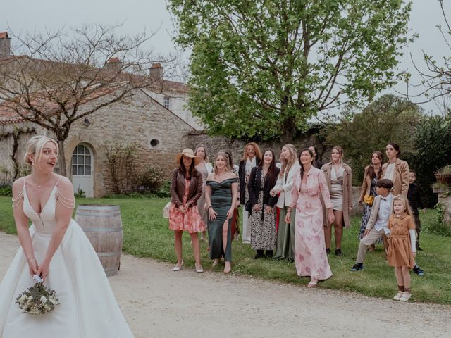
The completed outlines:
<svg viewBox="0 0 451 338">
<path fill-rule="evenodd" d="M 297 161 L 297 152 L 292 144 L 285 144 L 280 151 L 280 173 L 276 187 L 271 190 L 271 195 L 279 195 L 277 207 L 280 209 L 279 228 L 277 233 L 277 246 L 274 258 L 287 259 L 290 262 L 295 261 L 295 215 L 291 213 L 290 223 L 285 222 L 287 208 L 292 202 L 291 188 L 293 185 L 293 177 L 299 173 L 299 161 Z"/>
</svg>

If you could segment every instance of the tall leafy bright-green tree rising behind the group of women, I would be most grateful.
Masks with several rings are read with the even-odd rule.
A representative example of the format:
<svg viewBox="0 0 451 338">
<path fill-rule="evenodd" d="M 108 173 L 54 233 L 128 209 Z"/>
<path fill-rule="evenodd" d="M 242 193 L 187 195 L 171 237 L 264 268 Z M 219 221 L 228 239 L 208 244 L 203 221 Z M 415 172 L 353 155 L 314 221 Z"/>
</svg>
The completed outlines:
<svg viewBox="0 0 451 338">
<path fill-rule="evenodd" d="M 393 85 L 402 0 L 170 0 L 192 49 L 190 110 L 214 134 L 291 140 L 311 116 Z"/>
</svg>

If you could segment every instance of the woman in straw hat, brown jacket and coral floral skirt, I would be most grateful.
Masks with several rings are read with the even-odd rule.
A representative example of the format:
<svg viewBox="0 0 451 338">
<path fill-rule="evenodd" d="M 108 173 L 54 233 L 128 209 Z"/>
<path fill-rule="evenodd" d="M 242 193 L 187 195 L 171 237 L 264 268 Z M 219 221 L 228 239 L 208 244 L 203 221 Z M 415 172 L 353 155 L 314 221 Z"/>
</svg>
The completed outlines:
<svg viewBox="0 0 451 338">
<path fill-rule="evenodd" d="M 175 156 L 175 168 L 171 180 L 171 207 L 169 208 L 169 229 L 174 231 L 175 254 L 177 264 L 174 271 L 179 271 L 183 266 L 182 234 L 190 232 L 192 251 L 196 260 L 196 271 L 202 273 L 200 263 L 200 248 L 197 232 L 205 230 L 204 222 L 197 210 L 197 200 L 202 196 L 202 174 L 196 170 L 201 158 L 194 156 L 192 149 L 183 149 Z"/>
</svg>

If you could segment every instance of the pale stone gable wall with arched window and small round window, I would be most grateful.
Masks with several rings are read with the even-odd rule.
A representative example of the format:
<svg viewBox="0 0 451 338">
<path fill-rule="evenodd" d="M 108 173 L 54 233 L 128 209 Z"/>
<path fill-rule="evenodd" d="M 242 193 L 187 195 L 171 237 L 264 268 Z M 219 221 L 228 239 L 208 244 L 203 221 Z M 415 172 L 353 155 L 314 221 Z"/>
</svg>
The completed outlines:
<svg viewBox="0 0 451 338">
<path fill-rule="evenodd" d="M 133 104 L 115 104 L 89 115 L 89 125 L 79 120 L 66 142 L 66 158 L 78 144 L 94 151 L 94 196 L 113 192 L 113 180 L 106 158 L 106 146 L 137 144 L 137 170 L 150 165 L 161 168 L 166 178 L 175 168 L 175 155 L 183 149 L 183 135 L 193 128 L 176 115 L 137 93 Z M 68 167 L 69 169 L 69 167 Z"/>
</svg>

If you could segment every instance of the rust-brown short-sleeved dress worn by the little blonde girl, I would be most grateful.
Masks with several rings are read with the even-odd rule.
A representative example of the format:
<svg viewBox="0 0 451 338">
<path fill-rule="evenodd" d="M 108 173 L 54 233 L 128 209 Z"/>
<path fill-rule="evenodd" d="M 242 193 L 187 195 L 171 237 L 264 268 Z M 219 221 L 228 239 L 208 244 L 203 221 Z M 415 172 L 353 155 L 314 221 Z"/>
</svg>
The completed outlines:
<svg viewBox="0 0 451 338">
<path fill-rule="evenodd" d="M 388 244 L 388 265 L 414 268 L 415 261 L 412 254 L 409 230 L 415 230 L 412 216 L 404 213 L 402 215 L 390 215 L 388 219 L 390 239 Z"/>
</svg>

